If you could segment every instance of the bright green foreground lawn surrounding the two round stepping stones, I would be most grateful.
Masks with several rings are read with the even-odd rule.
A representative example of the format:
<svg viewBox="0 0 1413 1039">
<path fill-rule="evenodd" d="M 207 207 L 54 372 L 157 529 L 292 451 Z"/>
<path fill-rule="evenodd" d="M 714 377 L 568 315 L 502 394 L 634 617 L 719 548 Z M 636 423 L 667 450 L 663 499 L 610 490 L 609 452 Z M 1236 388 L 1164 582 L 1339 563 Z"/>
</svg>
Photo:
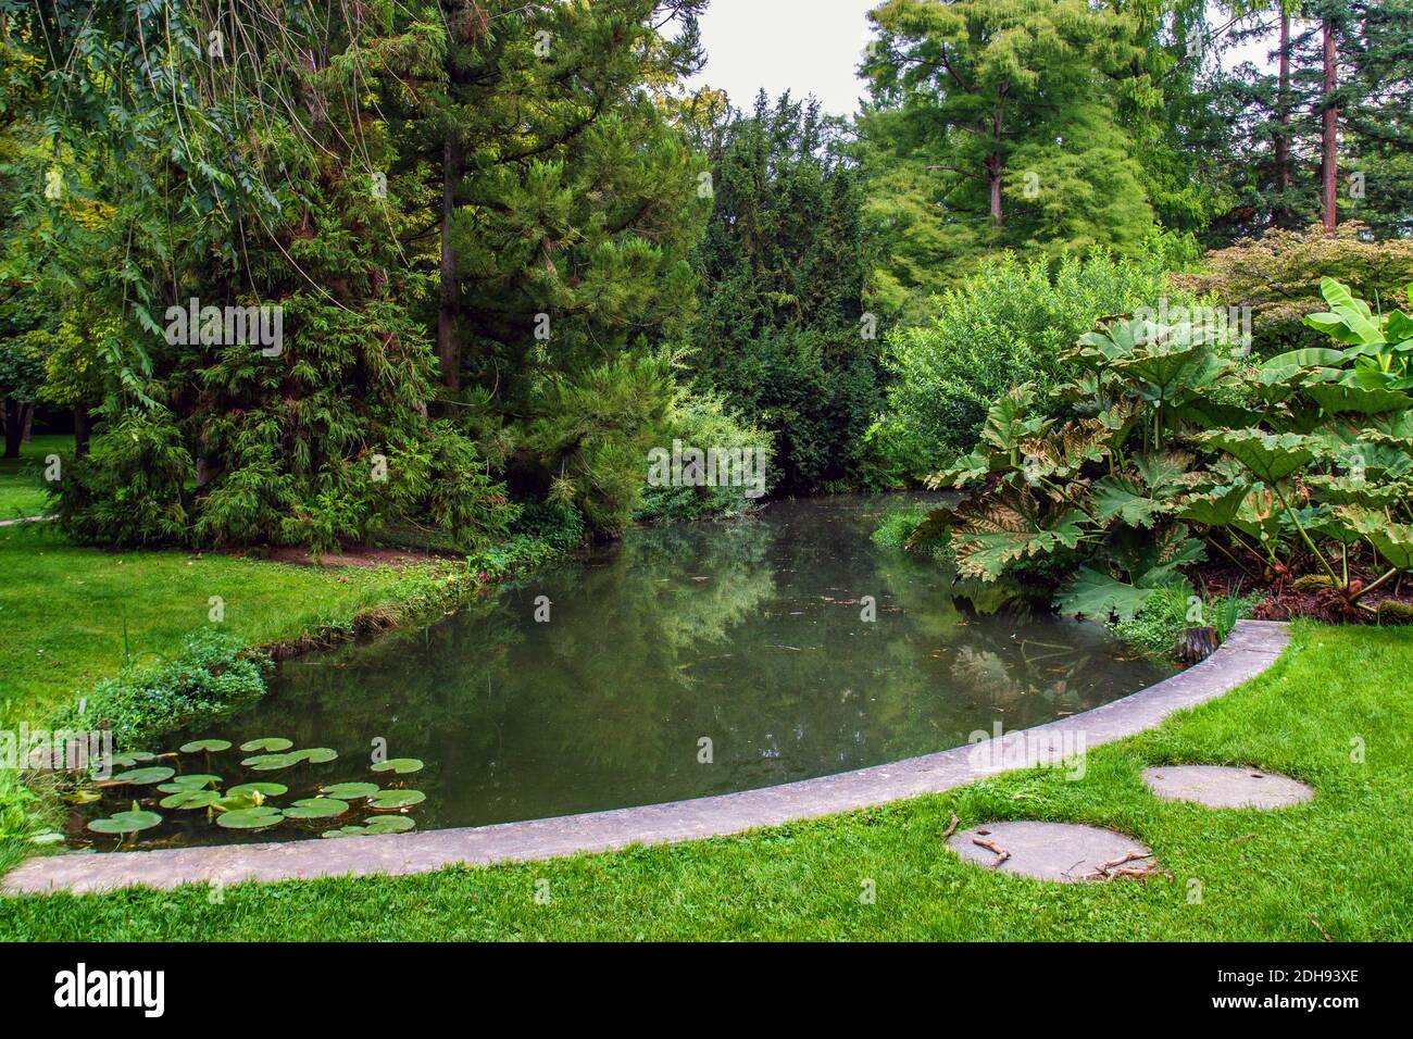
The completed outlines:
<svg viewBox="0 0 1413 1039">
<path fill-rule="evenodd" d="M 1413 633 L 1301 625 L 1270 671 L 1089 753 L 945 796 L 731 840 L 404 878 L 0 899 L 16 940 L 1413 939 Z M 1282 811 L 1167 803 L 1150 763 L 1255 765 L 1314 785 Z M 1173 879 L 1051 885 L 941 845 L 1000 818 L 1108 826 Z M 396 840 L 396 838 L 389 838 Z M 545 881 L 548 886 L 538 885 Z M 869 884 L 876 900 L 861 898 Z M 538 885 L 538 886 L 537 886 Z M 548 903 L 536 899 L 548 893 Z"/>
</svg>

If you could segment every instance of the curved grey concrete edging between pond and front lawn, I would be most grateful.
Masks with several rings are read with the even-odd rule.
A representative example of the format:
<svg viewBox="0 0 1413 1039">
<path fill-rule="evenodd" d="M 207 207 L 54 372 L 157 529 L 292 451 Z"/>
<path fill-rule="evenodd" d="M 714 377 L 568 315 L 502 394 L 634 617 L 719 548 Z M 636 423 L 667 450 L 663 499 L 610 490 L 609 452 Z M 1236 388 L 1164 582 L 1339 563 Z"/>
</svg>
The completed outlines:
<svg viewBox="0 0 1413 1039">
<path fill-rule="evenodd" d="M 485 827 L 424 830 L 338 841 L 278 841 L 226 847 L 31 858 L 0 881 L 0 893 L 73 893 L 129 886 L 285 881 L 432 872 L 454 864 L 528 862 L 632 844 L 726 837 L 757 827 L 818 818 L 887 802 L 942 793 L 988 775 L 1064 756 L 1153 728 L 1167 715 L 1215 700 L 1265 671 L 1290 640 L 1287 625 L 1239 621 L 1211 657 L 1082 714 L 892 765 L 805 779 L 760 790 L 667 804 L 615 809 Z M 989 761 L 983 761 L 989 759 Z"/>
</svg>

